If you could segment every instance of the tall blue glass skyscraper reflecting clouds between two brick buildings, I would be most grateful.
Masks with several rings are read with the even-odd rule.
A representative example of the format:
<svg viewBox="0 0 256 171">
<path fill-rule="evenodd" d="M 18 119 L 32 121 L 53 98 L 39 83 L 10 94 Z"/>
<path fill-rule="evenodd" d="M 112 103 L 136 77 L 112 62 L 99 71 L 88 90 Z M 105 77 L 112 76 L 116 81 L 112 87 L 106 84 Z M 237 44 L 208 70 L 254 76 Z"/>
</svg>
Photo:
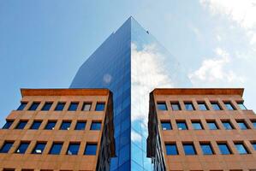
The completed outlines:
<svg viewBox="0 0 256 171">
<path fill-rule="evenodd" d="M 111 159 L 110 169 L 149 171 L 149 93 L 157 87 L 189 86 L 176 58 L 130 17 L 82 64 L 70 88 L 109 88 L 113 92 L 116 157 Z"/>
</svg>

